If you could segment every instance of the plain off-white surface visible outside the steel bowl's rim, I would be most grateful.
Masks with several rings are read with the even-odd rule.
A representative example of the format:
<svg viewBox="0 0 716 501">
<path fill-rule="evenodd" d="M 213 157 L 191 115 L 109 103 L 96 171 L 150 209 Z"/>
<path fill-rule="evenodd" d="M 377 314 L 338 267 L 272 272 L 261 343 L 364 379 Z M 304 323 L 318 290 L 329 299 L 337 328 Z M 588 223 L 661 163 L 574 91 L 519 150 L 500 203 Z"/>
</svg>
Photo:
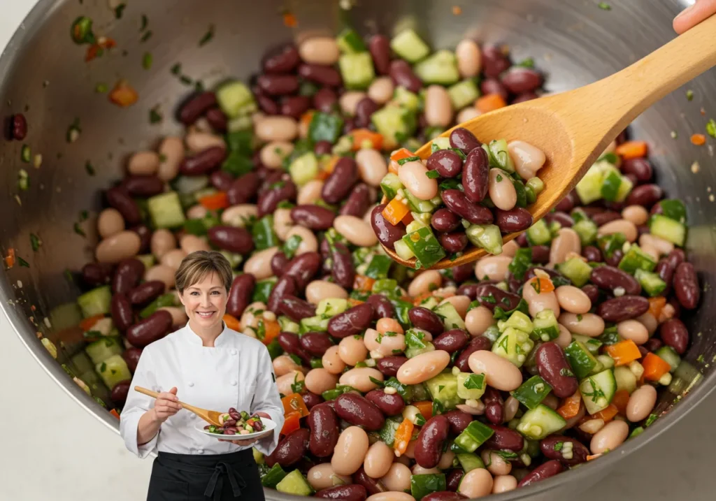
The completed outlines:
<svg viewBox="0 0 716 501">
<path fill-rule="evenodd" d="M 0 0 L 0 47 L 34 0 Z M 67 397 L 0 315 L 0 499 L 145 499 L 151 459 L 126 451 L 119 435 Z M 32 389 L 32 391 L 30 390 Z M 713 500 L 716 397 L 619 464 L 581 501 Z M 566 490 L 555 500 L 574 500 Z"/>
</svg>

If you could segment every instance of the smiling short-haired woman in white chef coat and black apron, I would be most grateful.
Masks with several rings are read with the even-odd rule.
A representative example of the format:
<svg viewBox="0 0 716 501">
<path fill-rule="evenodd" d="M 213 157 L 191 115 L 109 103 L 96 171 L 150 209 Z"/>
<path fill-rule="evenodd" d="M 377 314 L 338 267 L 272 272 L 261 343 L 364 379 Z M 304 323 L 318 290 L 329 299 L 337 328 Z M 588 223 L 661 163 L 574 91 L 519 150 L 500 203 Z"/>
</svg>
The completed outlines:
<svg viewBox="0 0 716 501">
<path fill-rule="evenodd" d="M 142 351 L 120 432 L 139 457 L 158 450 L 147 501 L 263 500 L 251 446 L 270 454 L 279 442 L 284 409 L 271 356 L 261 341 L 223 323 L 231 266 L 221 253 L 199 250 L 176 272 L 188 324 Z M 155 400 L 134 391 L 160 391 Z M 198 432 L 206 424 L 178 399 L 226 412 L 230 407 L 276 422 L 269 437 L 218 440 Z"/>
</svg>

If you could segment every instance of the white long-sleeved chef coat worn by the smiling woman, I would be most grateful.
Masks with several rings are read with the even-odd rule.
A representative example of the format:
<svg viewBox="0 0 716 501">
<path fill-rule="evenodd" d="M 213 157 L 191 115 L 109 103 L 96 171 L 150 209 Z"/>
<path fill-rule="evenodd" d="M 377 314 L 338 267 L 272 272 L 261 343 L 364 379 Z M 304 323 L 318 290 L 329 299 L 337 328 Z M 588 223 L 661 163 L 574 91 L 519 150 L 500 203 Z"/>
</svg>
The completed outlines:
<svg viewBox="0 0 716 501">
<path fill-rule="evenodd" d="M 197 428 L 207 423 L 186 409 L 163 422 L 150 442 L 137 446 L 137 424 L 142 414 L 154 407 L 155 399 L 138 393 L 135 386 L 154 391 L 169 391 L 176 386 L 180 401 L 219 412 L 229 407 L 249 414 L 266 412 L 276 422 L 276 430 L 253 447 L 271 454 L 279 443 L 284 407 L 269 351 L 258 339 L 232 331 L 226 324 L 213 348 L 203 346 L 187 324 L 142 350 L 120 414 L 120 433 L 127 449 L 142 458 L 154 449 L 175 454 L 225 454 L 247 449 L 200 433 Z"/>
</svg>

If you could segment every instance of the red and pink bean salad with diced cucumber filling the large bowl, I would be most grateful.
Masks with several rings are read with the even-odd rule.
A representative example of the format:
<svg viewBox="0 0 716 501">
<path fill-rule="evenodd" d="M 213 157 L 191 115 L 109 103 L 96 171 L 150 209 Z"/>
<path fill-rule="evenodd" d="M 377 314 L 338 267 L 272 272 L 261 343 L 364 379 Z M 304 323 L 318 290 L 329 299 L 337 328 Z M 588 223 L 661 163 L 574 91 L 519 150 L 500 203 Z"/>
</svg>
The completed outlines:
<svg viewBox="0 0 716 501">
<path fill-rule="evenodd" d="M 700 300 L 684 204 L 654 183 L 647 143 L 622 133 L 538 221 L 532 145 L 458 129 L 412 154 L 542 82 L 502 47 L 431 53 L 412 30 L 347 29 L 191 94 L 183 137 L 135 152 L 104 193 L 78 299 L 97 384 L 120 409 L 142 349 L 187 320 L 180 261 L 217 249 L 235 271 L 224 321 L 269 349 L 286 411 L 275 451 L 255 452 L 268 488 L 460 500 L 643 432 Z M 380 243 L 424 267 L 467 245 L 493 255 L 416 271 Z M 243 433 L 247 417 L 226 416 L 223 432 Z"/>
</svg>

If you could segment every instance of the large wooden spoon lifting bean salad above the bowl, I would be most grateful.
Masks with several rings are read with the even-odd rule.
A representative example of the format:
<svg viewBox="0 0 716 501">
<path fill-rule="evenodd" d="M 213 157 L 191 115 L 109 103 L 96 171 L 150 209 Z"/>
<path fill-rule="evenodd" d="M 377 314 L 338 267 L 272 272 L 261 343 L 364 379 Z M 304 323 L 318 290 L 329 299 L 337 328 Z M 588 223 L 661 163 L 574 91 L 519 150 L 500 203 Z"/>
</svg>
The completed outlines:
<svg viewBox="0 0 716 501">
<path fill-rule="evenodd" d="M 655 50 L 647 57 L 584 87 L 533 99 L 473 118 L 456 125 L 473 132 L 481 142 L 493 139 L 523 140 L 541 149 L 547 161 L 538 172 L 544 190 L 528 207 L 533 220 L 543 218 L 581 180 L 597 157 L 637 116 L 683 84 L 716 66 L 716 16 Z M 453 130 L 443 132 L 448 137 Z M 430 145 L 415 155 L 430 156 Z M 383 198 L 382 203 L 388 200 Z M 503 242 L 519 233 L 503 235 Z M 415 258 L 401 259 L 383 246 L 387 254 L 408 268 Z M 451 268 L 485 256 L 471 247 L 463 256 L 448 258 L 431 266 Z"/>
</svg>

